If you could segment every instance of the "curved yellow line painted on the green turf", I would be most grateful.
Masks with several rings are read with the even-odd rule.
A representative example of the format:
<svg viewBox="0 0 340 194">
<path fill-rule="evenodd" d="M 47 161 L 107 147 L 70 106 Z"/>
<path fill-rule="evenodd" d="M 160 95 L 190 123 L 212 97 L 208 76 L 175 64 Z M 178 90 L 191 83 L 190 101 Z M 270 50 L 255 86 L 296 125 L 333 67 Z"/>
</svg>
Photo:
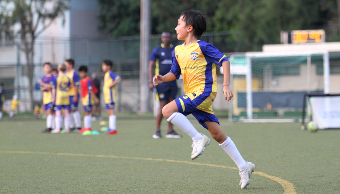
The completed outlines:
<svg viewBox="0 0 340 194">
<path fill-rule="evenodd" d="M 122 158 L 122 159 L 136 159 L 136 160 L 152 160 L 152 161 L 166 161 L 166 162 L 179 162 L 179 163 L 186 163 L 186 164 L 194 164 L 194 165 L 203 165 L 203 166 L 211 166 L 211 167 L 218 167 L 218 168 L 229 168 L 238 170 L 236 167 L 230 166 L 221 166 L 215 164 L 204 164 L 204 163 L 197 163 L 197 162 L 187 162 L 187 161 L 180 161 L 180 160 L 168 160 L 168 159 L 154 159 L 154 158 L 138 158 L 138 157 L 125 157 L 125 156 L 106 156 L 106 155 L 90 155 L 90 154 L 82 154 L 82 153 L 53 153 L 53 152 L 40 152 L 40 151 L 0 151 L 0 153 L 32 153 L 32 154 L 49 154 L 49 155 L 60 155 L 60 156 L 86 156 L 86 157 L 102 157 L 102 158 Z M 278 182 L 284 190 L 284 194 L 296 194 L 295 186 L 282 178 L 268 175 L 262 172 L 253 172 L 253 174 L 260 175 L 266 178 L 269 178 L 273 181 Z"/>
</svg>

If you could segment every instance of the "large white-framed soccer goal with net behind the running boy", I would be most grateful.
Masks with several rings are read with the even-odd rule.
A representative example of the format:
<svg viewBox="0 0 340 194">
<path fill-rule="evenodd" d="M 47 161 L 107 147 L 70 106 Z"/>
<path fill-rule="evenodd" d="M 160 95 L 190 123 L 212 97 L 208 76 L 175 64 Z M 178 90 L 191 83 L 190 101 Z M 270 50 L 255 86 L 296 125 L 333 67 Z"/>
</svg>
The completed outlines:
<svg viewBox="0 0 340 194">
<path fill-rule="evenodd" d="M 304 95 L 329 94 L 326 50 L 247 52 L 230 61 L 234 98 L 229 120 L 301 122 Z"/>
</svg>

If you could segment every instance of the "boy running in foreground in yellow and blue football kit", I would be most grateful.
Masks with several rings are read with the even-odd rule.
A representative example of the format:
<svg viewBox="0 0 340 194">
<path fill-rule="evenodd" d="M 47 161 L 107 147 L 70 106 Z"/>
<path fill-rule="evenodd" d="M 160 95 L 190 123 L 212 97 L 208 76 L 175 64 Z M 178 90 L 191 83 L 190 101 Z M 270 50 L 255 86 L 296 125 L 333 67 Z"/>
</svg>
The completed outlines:
<svg viewBox="0 0 340 194">
<path fill-rule="evenodd" d="M 222 91 L 225 100 L 229 101 L 233 97 L 233 92 L 229 87 L 228 58 L 216 47 L 198 40 L 206 31 L 206 19 L 203 15 L 201 11 L 186 11 L 181 14 L 175 30 L 177 39 L 185 43 L 176 46 L 172 52 L 170 72 L 164 76 L 157 74 L 153 82 L 156 84 L 179 79 L 182 73 L 186 95 L 168 103 L 162 110 L 164 117 L 191 136 L 193 160 L 202 154 L 210 139 L 199 133 L 186 118 L 186 115 L 192 114 L 236 163 L 240 170 L 241 189 L 245 189 L 255 165 L 243 160 L 234 142 L 224 134 L 212 111 L 211 104 L 217 94 L 215 64 L 223 68 Z"/>
</svg>

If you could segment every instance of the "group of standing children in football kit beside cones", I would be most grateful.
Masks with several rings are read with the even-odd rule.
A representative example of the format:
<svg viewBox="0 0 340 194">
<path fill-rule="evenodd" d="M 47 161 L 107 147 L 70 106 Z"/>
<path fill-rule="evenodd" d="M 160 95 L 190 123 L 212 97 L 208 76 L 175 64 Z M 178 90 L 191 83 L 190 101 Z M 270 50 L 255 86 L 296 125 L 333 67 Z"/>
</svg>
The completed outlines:
<svg viewBox="0 0 340 194">
<path fill-rule="evenodd" d="M 58 65 L 57 75 L 52 75 L 52 66 L 45 63 L 43 70 L 45 76 L 39 80 L 40 90 L 43 91 L 43 106 L 46 117 L 47 129 L 43 132 L 69 133 L 91 130 L 92 106 L 99 104 L 99 88 L 87 76 L 87 66 L 79 68 L 79 76 L 73 68 L 74 60 L 69 59 L 65 64 Z M 105 60 L 102 63 L 104 76 L 104 98 L 109 114 L 109 128 L 107 134 L 117 134 L 116 115 L 114 104 L 116 101 L 115 85 L 121 80 L 112 70 L 112 61 Z M 78 93 L 80 87 L 80 96 Z M 97 94 L 97 96 L 96 96 Z M 81 128 L 81 116 L 78 111 L 78 101 L 81 98 L 84 106 L 84 128 Z M 62 130 L 64 116 L 64 129 Z"/>
</svg>

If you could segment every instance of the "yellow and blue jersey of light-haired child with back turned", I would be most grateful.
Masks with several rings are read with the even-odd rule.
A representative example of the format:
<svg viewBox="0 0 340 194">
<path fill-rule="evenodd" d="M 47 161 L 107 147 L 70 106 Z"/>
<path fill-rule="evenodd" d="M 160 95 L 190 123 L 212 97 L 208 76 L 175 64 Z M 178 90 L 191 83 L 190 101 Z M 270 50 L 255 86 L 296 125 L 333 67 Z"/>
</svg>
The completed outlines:
<svg viewBox="0 0 340 194">
<path fill-rule="evenodd" d="M 66 75 L 57 76 L 53 79 L 52 88 L 55 89 L 55 105 L 70 105 L 70 79 Z"/>
</svg>

